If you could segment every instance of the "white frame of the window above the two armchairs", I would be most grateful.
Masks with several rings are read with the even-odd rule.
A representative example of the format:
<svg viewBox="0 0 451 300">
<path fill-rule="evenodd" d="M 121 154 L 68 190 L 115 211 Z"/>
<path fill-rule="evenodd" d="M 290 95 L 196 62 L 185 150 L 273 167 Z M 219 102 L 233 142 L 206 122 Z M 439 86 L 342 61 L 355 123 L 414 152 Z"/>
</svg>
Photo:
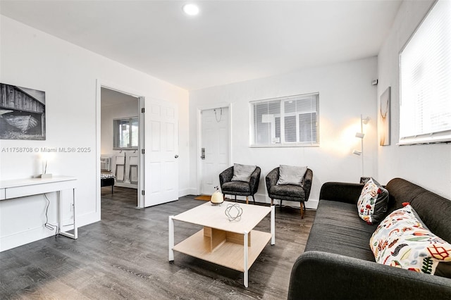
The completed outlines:
<svg viewBox="0 0 451 300">
<path fill-rule="evenodd" d="M 288 101 L 297 101 L 302 99 L 307 99 L 308 97 L 316 97 L 316 109 L 309 109 L 309 110 L 303 110 L 303 111 L 291 111 L 288 113 L 285 113 L 285 103 Z M 298 98 L 298 99 L 297 99 Z M 265 123 L 271 123 L 271 141 L 274 139 L 279 139 L 279 142 L 271 142 L 271 144 L 257 144 L 256 141 L 256 120 L 254 120 L 254 106 L 257 104 L 269 104 L 280 101 L 280 112 L 279 113 L 273 113 L 271 115 L 271 120 L 268 120 L 268 122 Z M 314 100 L 310 100 L 314 101 Z M 297 94 L 292 96 L 281 96 L 277 98 L 271 98 L 271 99 L 261 99 L 256 101 L 249 101 L 249 147 L 252 148 L 271 148 L 271 147 L 316 147 L 320 145 L 320 135 L 319 135 L 319 92 L 314 93 L 308 93 L 308 94 Z M 300 134 L 300 123 L 299 120 L 300 115 L 311 115 L 315 114 L 315 126 L 316 127 L 316 142 L 301 142 L 299 139 Z M 287 142 L 287 136 L 285 135 L 285 118 L 295 116 L 295 130 L 296 130 L 296 141 L 295 142 Z M 276 136 L 276 119 L 279 118 L 279 132 L 280 137 Z M 312 123 L 310 123 L 311 125 Z M 310 126 L 311 127 L 311 126 Z"/>
</svg>

